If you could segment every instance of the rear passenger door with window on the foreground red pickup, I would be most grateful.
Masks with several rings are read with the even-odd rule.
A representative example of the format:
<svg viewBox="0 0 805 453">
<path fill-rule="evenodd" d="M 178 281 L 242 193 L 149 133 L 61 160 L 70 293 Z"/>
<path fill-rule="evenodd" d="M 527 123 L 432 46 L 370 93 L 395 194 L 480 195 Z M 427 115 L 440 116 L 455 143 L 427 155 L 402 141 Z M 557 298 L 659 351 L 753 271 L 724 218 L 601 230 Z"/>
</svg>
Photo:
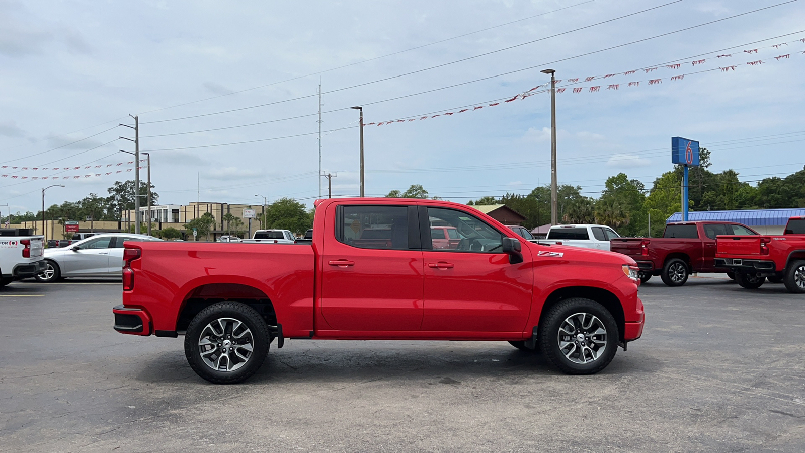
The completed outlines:
<svg viewBox="0 0 805 453">
<path fill-rule="evenodd" d="M 415 206 L 344 204 L 335 211 L 335 238 L 321 254 L 324 321 L 333 330 L 419 330 L 424 276 Z"/>
</svg>

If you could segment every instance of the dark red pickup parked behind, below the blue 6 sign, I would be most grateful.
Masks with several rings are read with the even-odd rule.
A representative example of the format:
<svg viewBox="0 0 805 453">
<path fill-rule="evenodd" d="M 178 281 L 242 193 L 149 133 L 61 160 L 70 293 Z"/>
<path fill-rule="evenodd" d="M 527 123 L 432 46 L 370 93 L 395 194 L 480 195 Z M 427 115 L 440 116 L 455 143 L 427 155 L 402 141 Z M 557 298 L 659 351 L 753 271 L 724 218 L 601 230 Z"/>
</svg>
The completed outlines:
<svg viewBox="0 0 805 453">
<path fill-rule="evenodd" d="M 717 235 L 757 234 L 741 223 L 675 222 L 662 238 L 613 238 L 609 249 L 637 261 L 643 283 L 660 276 L 668 286 L 682 286 L 693 272 L 727 272 L 716 267 Z"/>
</svg>

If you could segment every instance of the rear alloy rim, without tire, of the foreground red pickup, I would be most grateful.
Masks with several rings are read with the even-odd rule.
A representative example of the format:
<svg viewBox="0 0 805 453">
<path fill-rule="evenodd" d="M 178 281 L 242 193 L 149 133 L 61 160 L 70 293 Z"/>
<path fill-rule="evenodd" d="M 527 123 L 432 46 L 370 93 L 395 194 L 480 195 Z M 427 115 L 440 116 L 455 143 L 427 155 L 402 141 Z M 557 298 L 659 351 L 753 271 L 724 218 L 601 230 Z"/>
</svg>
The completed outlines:
<svg viewBox="0 0 805 453">
<path fill-rule="evenodd" d="M 242 321 L 217 318 L 201 331 L 198 347 L 201 359 L 209 368 L 233 372 L 251 358 L 254 335 Z"/>
</svg>

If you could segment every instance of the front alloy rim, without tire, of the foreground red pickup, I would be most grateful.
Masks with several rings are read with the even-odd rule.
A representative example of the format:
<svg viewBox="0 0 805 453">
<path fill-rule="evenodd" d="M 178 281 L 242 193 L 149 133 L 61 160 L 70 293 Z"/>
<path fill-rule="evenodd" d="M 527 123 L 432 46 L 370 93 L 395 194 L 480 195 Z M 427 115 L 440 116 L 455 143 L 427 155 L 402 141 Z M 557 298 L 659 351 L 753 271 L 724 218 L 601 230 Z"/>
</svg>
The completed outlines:
<svg viewBox="0 0 805 453">
<path fill-rule="evenodd" d="M 559 351 L 573 363 L 595 361 L 606 350 L 606 343 L 606 327 L 593 314 L 572 314 L 559 327 Z"/>
</svg>

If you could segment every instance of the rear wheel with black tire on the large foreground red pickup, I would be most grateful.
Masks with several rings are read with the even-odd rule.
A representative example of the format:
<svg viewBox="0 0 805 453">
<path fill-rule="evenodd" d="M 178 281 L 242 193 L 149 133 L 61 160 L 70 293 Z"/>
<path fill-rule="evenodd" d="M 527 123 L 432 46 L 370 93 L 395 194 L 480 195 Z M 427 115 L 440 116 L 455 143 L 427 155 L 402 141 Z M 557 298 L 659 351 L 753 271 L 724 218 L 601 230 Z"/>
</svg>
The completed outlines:
<svg viewBox="0 0 805 453">
<path fill-rule="evenodd" d="M 213 324 L 215 328 L 211 327 Z M 216 329 L 219 335 L 215 335 Z M 200 345 L 202 339 L 207 343 Z M 237 384 L 258 371 L 266 359 L 269 340 L 266 321 L 256 310 L 241 302 L 224 301 L 209 305 L 192 319 L 184 337 L 184 355 L 190 368 L 205 380 L 213 384 Z M 228 345 L 234 347 L 224 354 L 217 352 Z M 251 351 L 248 347 L 252 348 Z M 204 355 L 209 362 L 202 356 L 202 348 L 206 350 Z M 223 355 L 226 359 L 222 359 Z M 230 355 L 232 359 L 229 359 Z M 213 361 L 218 369 L 213 368 Z M 224 365 L 233 369 L 222 370 Z"/>
</svg>

